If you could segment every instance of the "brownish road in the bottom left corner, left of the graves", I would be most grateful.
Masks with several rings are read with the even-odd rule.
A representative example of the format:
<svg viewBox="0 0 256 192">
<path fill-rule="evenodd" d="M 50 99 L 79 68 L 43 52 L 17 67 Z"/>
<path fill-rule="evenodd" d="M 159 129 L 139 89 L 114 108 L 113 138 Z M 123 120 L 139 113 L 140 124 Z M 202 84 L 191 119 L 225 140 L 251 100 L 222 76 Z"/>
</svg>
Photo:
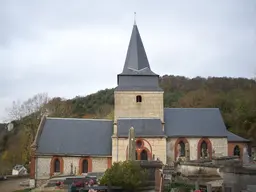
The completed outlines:
<svg viewBox="0 0 256 192">
<path fill-rule="evenodd" d="M 1 192 L 13 192 L 15 190 L 24 189 L 26 187 L 20 186 L 20 182 L 23 182 L 26 180 L 28 180 L 28 178 L 0 181 L 0 191 Z"/>
</svg>

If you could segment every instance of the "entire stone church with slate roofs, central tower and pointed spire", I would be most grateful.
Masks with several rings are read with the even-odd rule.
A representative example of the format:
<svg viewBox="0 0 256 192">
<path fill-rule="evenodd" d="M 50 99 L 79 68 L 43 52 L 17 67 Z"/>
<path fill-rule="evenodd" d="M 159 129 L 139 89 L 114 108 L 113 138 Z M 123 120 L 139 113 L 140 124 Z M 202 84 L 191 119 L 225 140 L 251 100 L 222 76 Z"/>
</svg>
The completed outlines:
<svg viewBox="0 0 256 192">
<path fill-rule="evenodd" d="M 226 129 L 218 108 L 164 108 L 159 75 L 149 65 L 136 24 L 114 100 L 113 120 L 42 118 L 31 146 L 32 185 L 54 175 L 104 172 L 125 161 L 131 127 L 136 158 L 164 164 L 240 156 L 249 142 Z"/>
</svg>

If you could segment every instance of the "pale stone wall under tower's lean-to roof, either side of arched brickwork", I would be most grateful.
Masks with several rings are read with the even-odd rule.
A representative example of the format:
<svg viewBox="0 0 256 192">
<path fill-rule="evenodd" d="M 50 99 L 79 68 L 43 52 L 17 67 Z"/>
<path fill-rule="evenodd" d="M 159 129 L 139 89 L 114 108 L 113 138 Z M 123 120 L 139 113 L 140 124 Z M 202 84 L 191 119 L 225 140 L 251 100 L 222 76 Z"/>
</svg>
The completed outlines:
<svg viewBox="0 0 256 192">
<path fill-rule="evenodd" d="M 150 151 L 152 156 L 154 155 L 155 158 L 159 158 L 163 163 L 166 163 L 166 138 L 141 139 L 145 141 L 145 147 Z M 118 145 L 117 139 L 115 137 L 112 138 L 112 163 L 126 160 L 127 146 L 127 138 L 118 138 Z"/>
</svg>

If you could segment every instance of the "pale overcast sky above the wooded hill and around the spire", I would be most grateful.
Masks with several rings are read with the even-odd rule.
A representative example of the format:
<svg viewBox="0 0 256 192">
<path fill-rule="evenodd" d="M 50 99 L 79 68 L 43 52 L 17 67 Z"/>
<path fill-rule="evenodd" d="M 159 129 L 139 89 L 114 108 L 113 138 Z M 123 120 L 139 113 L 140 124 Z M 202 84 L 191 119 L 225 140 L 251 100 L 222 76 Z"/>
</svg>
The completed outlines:
<svg viewBox="0 0 256 192">
<path fill-rule="evenodd" d="M 115 87 L 134 11 L 159 75 L 256 76 L 255 0 L 0 0 L 0 121 L 37 93 Z"/>
</svg>

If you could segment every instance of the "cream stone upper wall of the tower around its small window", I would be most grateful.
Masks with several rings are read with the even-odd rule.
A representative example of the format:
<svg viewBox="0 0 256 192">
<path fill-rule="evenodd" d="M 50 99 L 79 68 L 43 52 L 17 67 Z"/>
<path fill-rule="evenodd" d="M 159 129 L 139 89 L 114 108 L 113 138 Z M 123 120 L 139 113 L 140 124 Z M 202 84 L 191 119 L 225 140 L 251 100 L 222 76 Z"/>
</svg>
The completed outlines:
<svg viewBox="0 0 256 192">
<path fill-rule="evenodd" d="M 141 95 L 142 102 L 136 103 Z M 114 122 L 118 118 L 159 118 L 164 120 L 163 92 L 115 91 Z M 116 134 L 116 126 L 114 126 Z"/>
</svg>

